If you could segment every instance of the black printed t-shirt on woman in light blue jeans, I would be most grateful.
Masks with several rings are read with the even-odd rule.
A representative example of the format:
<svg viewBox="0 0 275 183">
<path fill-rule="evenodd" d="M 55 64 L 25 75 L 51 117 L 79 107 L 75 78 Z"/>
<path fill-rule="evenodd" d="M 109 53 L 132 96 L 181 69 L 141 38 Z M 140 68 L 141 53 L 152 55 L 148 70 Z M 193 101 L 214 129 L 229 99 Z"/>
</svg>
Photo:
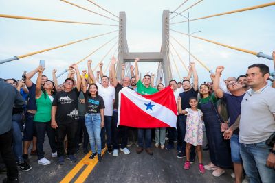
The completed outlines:
<svg viewBox="0 0 275 183">
<path fill-rule="evenodd" d="M 89 91 L 87 91 L 85 94 L 85 100 L 86 100 L 86 111 L 87 113 L 100 113 L 100 109 L 104 109 L 104 101 L 103 98 L 98 95 L 96 97 L 91 97 L 89 94 Z"/>
</svg>

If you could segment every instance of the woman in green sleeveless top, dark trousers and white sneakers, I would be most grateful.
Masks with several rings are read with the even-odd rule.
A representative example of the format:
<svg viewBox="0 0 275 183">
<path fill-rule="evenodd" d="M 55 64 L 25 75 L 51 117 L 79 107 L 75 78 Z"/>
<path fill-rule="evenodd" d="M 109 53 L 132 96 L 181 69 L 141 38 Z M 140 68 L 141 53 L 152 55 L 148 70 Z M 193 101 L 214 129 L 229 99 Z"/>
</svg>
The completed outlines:
<svg viewBox="0 0 275 183">
<path fill-rule="evenodd" d="M 51 110 L 52 101 L 54 100 L 54 95 L 56 94 L 56 89 L 54 88 L 54 82 L 47 80 L 41 86 L 41 77 L 44 71 L 43 66 L 39 67 L 39 75 L 36 80 L 36 106 L 37 111 L 34 115 L 34 125 L 37 132 L 37 156 L 38 163 L 42 165 L 50 164 L 50 160 L 44 157 L 43 143 L 45 140 L 45 133 L 49 138 L 50 147 L 52 149 L 52 157 L 57 157 L 56 151 L 56 132 L 51 127 Z"/>
</svg>

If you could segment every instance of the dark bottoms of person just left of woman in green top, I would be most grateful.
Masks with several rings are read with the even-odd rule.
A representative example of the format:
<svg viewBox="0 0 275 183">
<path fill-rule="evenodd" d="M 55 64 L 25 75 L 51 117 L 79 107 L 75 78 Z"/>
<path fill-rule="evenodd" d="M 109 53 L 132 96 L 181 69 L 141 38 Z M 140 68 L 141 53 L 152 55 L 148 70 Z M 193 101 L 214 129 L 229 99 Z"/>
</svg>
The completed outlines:
<svg viewBox="0 0 275 183">
<path fill-rule="evenodd" d="M 37 136 L 34 127 L 34 114 L 26 112 L 23 141 L 32 141 L 34 136 Z"/>
</svg>

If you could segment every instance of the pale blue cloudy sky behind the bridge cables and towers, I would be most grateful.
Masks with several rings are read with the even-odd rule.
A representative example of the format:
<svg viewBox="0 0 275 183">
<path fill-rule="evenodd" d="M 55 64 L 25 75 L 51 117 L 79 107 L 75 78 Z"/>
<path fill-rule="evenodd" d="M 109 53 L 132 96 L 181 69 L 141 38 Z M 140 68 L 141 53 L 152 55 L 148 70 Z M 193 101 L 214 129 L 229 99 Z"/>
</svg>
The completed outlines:
<svg viewBox="0 0 275 183">
<path fill-rule="evenodd" d="M 104 12 L 87 0 L 67 0 L 77 5 L 81 5 L 89 10 L 93 10 L 105 16 L 116 19 L 115 16 Z M 162 12 L 163 10 L 175 10 L 184 0 L 102 0 L 94 1 L 103 8 L 109 10 L 113 14 L 118 15 L 124 11 L 127 19 L 127 42 L 130 52 L 159 52 L 162 44 Z M 187 1 L 177 12 L 181 12 L 196 0 Z M 190 19 L 208 16 L 221 12 L 228 12 L 240 8 L 248 8 L 254 5 L 270 3 L 272 1 L 264 0 L 204 0 L 194 7 L 183 13 Z M 118 25 L 116 21 L 106 19 L 102 16 L 92 14 L 73 5 L 69 5 L 58 0 L 0 0 L 0 14 L 9 14 L 17 16 L 31 16 L 45 19 L 61 19 L 68 21 L 93 22 L 102 24 Z M 174 14 L 171 15 L 171 17 Z M 232 45 L 242 49 L 251 51 L 272 54 L 275 50 L 275 6 L 239 12 L 236 14 L 228 14 L 217 16 L 210 19 L 202 19 L 199 21 L 190 22 L 190 32 L 201 32 L 194 34 L 201 38 L 222 42 L 226 45 Z M 184 17 L 176 16 L 170 20 L 170 23 L 185 21 Z M 56 23 L 46 21 L 30 21 L 21 19 L 5 19 L 0 18 L 0 60 L 11 58 L 13 56 L 21 56 L 25 53 L 39 51 L 63 45 L 67 42 L 80 40 L 96 34 L 115 31 L 118 27 L 100 26 L 100 25 L 80 25 L 73 23 Z M 170 25 L 170 29 L 179 32 L 188 32 L 187 23 L 179 23 Z M 170 35 L 177 38 L 184 47 L 188 48 L 188 37 L 170 32 Z M 52 70 L 57 69 L 58 73 L 67 69 L 67 67 L 82 60 L 91 51 L 94 51 L 100 45 L 118 36 L 118 32 L 108 34 L 106 36 L 78 42 L 74 45 L 54 49 L 45 53 L 39 53 L 34 56 L 22 58 L 5 64 L 0 64 L 0 77 L 14 77 L 20 79 L 23 71 L 32 71 L 39 66 L 39 60 L 45 60 L 45 75 L 52 79 Z M 89 58 L 93 60 L 92 67 L 96 66 L 103 56 L 111 49 L 112 45 L 118 39 L 115 38 L 105 47 L 96 51 Z M 188 64 L 188 53 L 184 51 L 177 42 L 171 41 L 185 64 Z M 171 49 L 171 47 L 170 47 Z M 257 58 L 254 55 L 235 51 L 225 47 L 214 45 L 210 42 L 204 42 L 195 38 L 190 39 L 190 50 L 201 62 L 206 64 L 212 71 L 219 65 L 225 66 L 223 77 L 234 76 L 238 77 L 247 71 L 251 64 L 262 63 L 270 66 L 271 71 L 274 71 L 272 60 L 265 58 Z M 170 52 L 175 58 L 179 75 L 175 69 L 175 65 L 171 62 L 173 79 L 179 81 L 186 76 L 186 70 L 177 58 L 174 51 Z M 115 54 L 115 50 L 103 60 L 103 70 L 107 67 L 111 56 Z M 195 61 L 191 58 L 192 61 Z M 172 60 L 171 60 L 172 61 Z M 196 62 L 196 61 L 195 61 Z M 210 76 L 208 71 L 196 62 L 197 71 L 199 73 L 199 82 L 209 81 Z M 79 64 L 80 70 L 87 68 L 87 61 Z M 149 71 L 157 73 L 157 62 L 139 64 L 139 69 L 142 75 Z M 108 69 L 107 73 L 108 74 Z M 57 73 L 57 75 L 58 75 Z M 58 82 L 63 82 L 66 75 L 58 78 Z M 36 77 L 33 78 L 33 81 Z"/>
</svg>

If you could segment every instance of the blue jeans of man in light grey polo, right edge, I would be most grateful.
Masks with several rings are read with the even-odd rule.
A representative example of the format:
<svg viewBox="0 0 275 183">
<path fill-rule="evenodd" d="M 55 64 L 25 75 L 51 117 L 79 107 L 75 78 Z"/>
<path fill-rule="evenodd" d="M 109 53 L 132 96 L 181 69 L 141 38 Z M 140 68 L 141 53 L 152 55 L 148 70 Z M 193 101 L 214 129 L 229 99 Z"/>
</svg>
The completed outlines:
<svg viewBox="0 0 275 183">
<path fill-rule="evenodd" d="M 270 149 L 265 141 L 254 144 L 240 143 L 240 153 L 243 159 L 243 167 L 250 183 L 275 182 L 275 170 L 266 166 L 267 156 Z"/>
</svg>

